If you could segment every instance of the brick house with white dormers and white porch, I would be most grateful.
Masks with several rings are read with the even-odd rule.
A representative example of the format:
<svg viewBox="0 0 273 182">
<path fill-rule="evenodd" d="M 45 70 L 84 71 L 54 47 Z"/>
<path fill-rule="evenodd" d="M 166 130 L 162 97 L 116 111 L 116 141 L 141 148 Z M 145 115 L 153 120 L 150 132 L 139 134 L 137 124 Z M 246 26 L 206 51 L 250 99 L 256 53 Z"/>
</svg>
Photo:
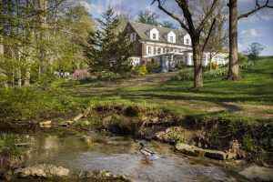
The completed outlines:
<svg viewBox="0 0 273 182">
<path fill-rule="evenodd" d="M 172 29 L 160 25 L 146 25 L 129 21 L 126 29 L 130 41 L 136 41 L 136 54 L 131 57 L 133 65 L 157 63 L 167 66 L 167 70 L 183 63 L 193 66 L 193 53 L 190 35 L 183 29 Z M 202 63 L 207 66 L 212 55 L 212 62 L 217 65 L 227 64 L 227 54 L 204 53 Z"/>
</svg>

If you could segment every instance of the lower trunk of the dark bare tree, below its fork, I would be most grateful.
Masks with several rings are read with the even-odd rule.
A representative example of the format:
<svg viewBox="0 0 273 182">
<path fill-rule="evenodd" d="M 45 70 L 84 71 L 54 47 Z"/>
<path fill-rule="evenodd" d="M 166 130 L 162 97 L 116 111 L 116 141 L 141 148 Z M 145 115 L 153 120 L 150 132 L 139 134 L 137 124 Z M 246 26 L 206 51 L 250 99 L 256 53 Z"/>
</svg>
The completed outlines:
<svg viewBox="0 0 273 182">
<path fill-rule="evenodd" d="M 203 87 L 203 77 L 202 77 L 202 51 L 199 45 L 198 38 L 192 38 L 192 48 L 193 48 L 193 61 L 194 61 L 194 87 L 199 89 Z"/>
</svg>

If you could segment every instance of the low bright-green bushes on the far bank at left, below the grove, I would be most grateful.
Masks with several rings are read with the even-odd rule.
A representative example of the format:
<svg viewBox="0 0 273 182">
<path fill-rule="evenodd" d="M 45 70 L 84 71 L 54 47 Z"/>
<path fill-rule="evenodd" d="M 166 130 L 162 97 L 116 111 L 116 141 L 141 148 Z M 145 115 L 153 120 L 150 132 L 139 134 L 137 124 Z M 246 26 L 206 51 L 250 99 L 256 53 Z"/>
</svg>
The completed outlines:
<svg viewBox="0 0 273 182">
<path fill-rule="evenodd" d="M 75 115 L 83 108 L 67 88 L 56 82 L 48 86 L 3 88 L 0 96 L 0 118 L 11 121 Z"/>
</svg>

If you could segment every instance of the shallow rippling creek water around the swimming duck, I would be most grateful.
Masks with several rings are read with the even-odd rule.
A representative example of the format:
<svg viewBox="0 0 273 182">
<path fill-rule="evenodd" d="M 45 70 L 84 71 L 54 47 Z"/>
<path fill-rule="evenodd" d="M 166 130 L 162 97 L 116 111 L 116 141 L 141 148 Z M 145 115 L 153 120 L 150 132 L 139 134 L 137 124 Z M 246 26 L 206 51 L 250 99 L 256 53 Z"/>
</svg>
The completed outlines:
<svg viewBox="0 0 273 182">
<path fill-rule="evenodd" d="M 157 153 L 156 160 L 139 152 L 139 141 L 132 137 L 88 133 L 76 136 L 21 136 L 26 166 L 48 163 L 78 170 L 106 169 L 136 181 L 236 181 L 225 168 L 210 162 L 196 163 L 158 142 L 146 142 Z"/>
</svg>

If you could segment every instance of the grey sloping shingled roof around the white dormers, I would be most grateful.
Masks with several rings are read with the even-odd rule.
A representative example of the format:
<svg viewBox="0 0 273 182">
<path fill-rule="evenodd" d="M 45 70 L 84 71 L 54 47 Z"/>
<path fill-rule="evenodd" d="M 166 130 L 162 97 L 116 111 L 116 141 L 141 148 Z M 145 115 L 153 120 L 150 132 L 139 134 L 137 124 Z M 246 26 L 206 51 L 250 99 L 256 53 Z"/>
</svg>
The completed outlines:
<svg viewBox="0 0 273 182">
<path fill-rule="evenodd" d="M 136 31 L 136 34 L 139 35 L 140 38 L 145 41 L 171 44 L 171 43 L 167 42 L 166 35 L 169 32 L 173 31 L 176 34 L 176 44 L 175 45 L 184 45 L 183 39 L 181 40 L 180 38 L 187 35 L 187 31 L 183 30 L 183 29 L 173 29 L 173 28 L 161 27 L 161 26 L 157 26 L 157 25 L 147 25 L 147 24 L 142 24 L 142 23 L 133 22 L 133 21 L 128 21 L 128 24 L 131 25 L 134 28 L 134 30 Z M 151 40 L 147 34 L 147 32 L 153 28 L 156 28 L 157 31 L 159 32 L 158 41 Z"/>
</svg>

